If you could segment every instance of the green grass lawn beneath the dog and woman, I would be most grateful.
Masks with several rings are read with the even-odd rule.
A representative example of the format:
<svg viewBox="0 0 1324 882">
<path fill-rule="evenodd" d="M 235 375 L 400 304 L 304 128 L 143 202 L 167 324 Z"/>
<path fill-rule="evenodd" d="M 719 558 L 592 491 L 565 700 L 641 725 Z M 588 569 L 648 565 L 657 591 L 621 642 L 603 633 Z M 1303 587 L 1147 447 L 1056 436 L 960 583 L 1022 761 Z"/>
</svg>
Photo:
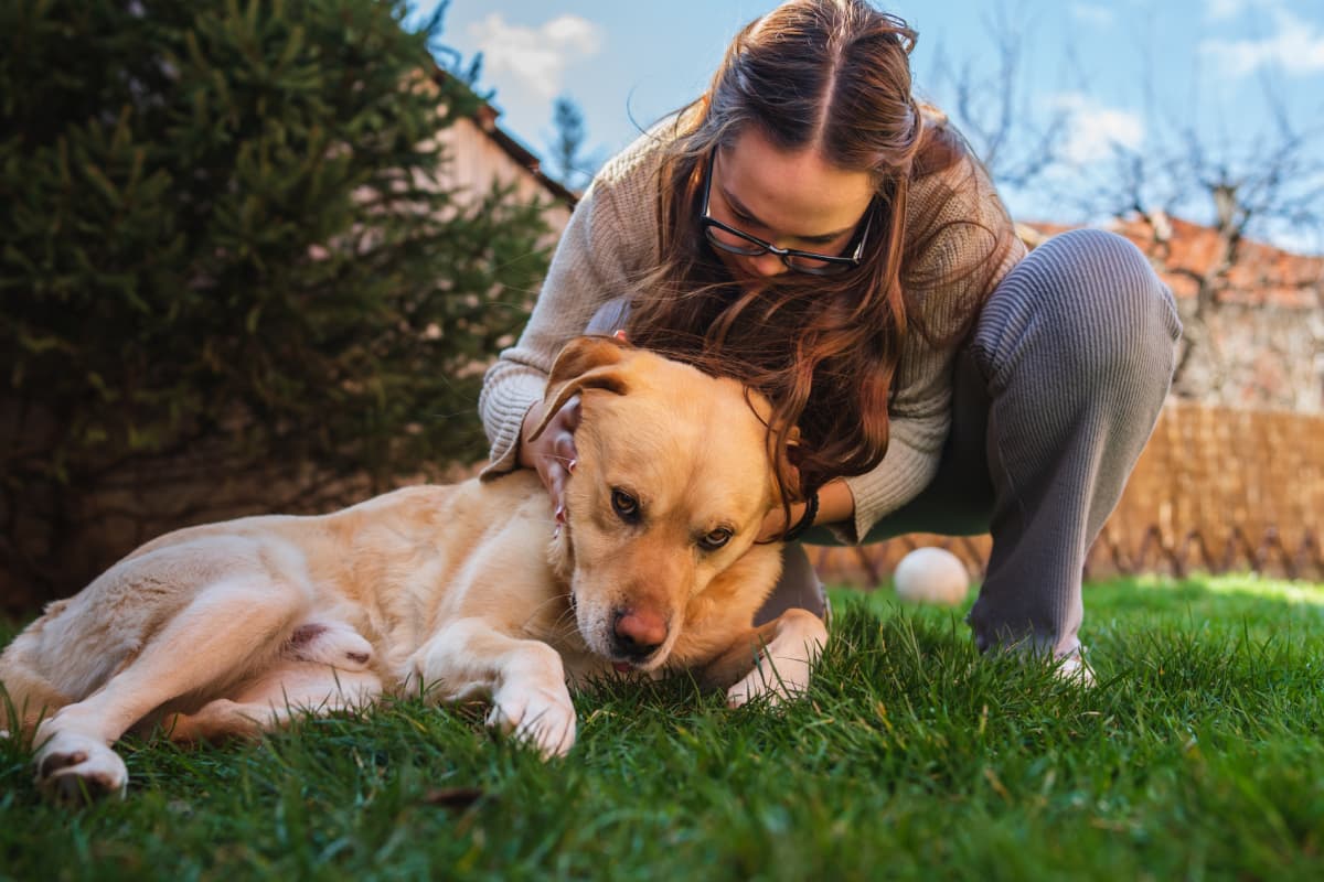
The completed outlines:
<svg viewBox="0 0 1324 882">
<path fill-rule="evenodd" d="M 0 742 L 0 878 L 1324 878 L 1324 586 L 1091 586 L 1092 690 L 977 657 L 963 611 L 835 603 L 810 701 L 605 684 L 549 764 L 405 701 L 128 741 L 128 800 L 70 812 Z"/>
</svg>

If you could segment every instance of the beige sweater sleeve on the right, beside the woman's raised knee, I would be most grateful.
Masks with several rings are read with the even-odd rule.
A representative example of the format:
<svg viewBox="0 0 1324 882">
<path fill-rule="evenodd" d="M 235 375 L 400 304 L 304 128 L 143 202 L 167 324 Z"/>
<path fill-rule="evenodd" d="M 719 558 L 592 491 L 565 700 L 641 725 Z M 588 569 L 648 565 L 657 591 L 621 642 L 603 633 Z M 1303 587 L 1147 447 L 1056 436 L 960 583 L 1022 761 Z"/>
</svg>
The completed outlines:
<svg viewBox="0 0 1324 882">
<path fill-rule="evenodd" d="M 902 278 L 911 315 L 888 405 L 890 440 L 874 471 L 846 479 L 855 517 L 833 532 L 849 543 L 933 480 L 951 428 L 957 349 L 985 294 L 1025 257 L 978 163 L 957 163 L 912 186 L 907 227 L 920 246 Z"/>
</svg>

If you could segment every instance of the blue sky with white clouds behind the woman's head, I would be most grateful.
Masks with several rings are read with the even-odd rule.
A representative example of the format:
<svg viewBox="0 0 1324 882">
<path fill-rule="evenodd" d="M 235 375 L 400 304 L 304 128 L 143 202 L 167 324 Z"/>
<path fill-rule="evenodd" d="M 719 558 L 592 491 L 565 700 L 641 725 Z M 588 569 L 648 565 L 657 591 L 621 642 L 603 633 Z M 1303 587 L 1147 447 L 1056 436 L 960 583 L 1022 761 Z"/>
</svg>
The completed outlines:
<svg viewBox="0 0 1324 882">
<path fill-rule="evenodd" d="M 417 0 L 420 11 L 436 0 Z M 500 123 L 547 156 L 551 106 L 569 95 L 584 111 L 589 144 L 609 155 L 699 94 L 731 36 L 769 0 L 453 0 L 441 42 L 469 60 L 483 54 L 479 85 L 493 90 Z M 888 0 L 882 8 L 919 30 L 912 56 L 919 93 L 951 106 L 943 69 L 992 74 L 996 21 L 1022 45 L 1018 103 L 1058 139 L 1067 165 L 1053 196 L 1004 186 L 1013 214 L 1079 221 L 1063 186 L 1112 175 L 1111 147 L 1144 151 L 1180 132 L 1230 165 L 1274 143 L 1276 103 L 1298 130 L 1319 135 L 1305 157 L 1324 163 L 1324 0 Z M 1272 98 L 1270 98 L 1272 97 Z M 1033 116 L 1026 115 L 1026 119 Z M 1025 140 L 1019 149 L 1030 149 Z M 1102 176 L 1102 177 L 1100 177 Z M 1104 181 L 1106 182 L 1106 181 Z M 1155 198 L 1161 194 L 1156 193 Z M 1198 216 L 1193 201 L 1178 212 Z M 1198 218 L 1197 220 L 1202 220 Z M 1319 230 L 1260 230 L 1288 247 L 1324 250 Z"/>
</svg>

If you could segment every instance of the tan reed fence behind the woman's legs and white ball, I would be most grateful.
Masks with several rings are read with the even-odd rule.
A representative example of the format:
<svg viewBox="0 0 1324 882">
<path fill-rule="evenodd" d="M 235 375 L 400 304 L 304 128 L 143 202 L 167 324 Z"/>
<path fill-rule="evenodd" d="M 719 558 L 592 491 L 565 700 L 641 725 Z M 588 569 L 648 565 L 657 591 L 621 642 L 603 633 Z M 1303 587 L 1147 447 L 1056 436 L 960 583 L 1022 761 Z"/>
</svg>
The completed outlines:
<svg viewBox="0 0 1324 882">
<path fill-rule="evenodd" d="M 1324 417 L 1170 402 L 1086 558 L 1086 578 L 1253 571 L 1324 581 Z M 907 551 L 947 547 L 982 575 L 988 536 L 812 547 L 829 583 L 886 582 Z"/>
</svg>

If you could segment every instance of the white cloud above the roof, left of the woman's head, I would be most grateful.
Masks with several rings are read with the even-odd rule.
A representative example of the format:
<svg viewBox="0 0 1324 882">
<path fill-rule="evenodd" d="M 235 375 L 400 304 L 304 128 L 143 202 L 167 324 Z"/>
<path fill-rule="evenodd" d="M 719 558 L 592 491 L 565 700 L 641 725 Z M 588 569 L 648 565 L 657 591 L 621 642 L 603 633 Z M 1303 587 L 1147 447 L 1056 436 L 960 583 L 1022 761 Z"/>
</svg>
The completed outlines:
<svg viewBox="0 0 1324 882">
<path fill-rule="evenodd" d="M 602 46 L 602 29 L 580 16 L 563 15 L 536 28 L 508 24 L 498 12 L 469 25 L 469 36 L 483 53 L 483 73 L 551 99 L 561 91 L 565 67 L 592 58 Z"/>
</svg>

